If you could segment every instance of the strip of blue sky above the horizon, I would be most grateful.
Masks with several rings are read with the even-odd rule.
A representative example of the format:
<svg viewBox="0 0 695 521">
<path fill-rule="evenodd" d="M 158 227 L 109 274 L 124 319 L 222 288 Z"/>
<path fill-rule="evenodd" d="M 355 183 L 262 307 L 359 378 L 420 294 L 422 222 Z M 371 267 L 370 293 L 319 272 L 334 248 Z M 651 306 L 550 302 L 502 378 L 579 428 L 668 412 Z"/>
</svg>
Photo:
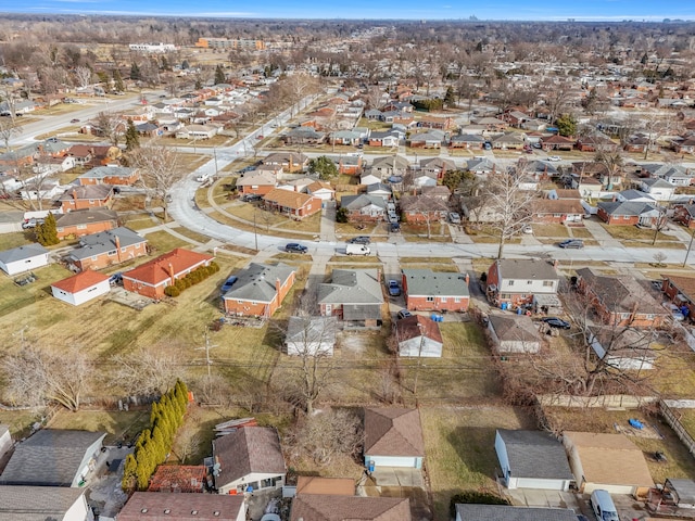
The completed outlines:
<svg viewBox="0 0 695 521">
<path fill-rule="evenodd" d="M 13 5 L 14 3 L 14 5 Z M 581 0 L 0 0 L 0 12 L 353 20 L 695 20 L 695 1 Z"/>
</svg>

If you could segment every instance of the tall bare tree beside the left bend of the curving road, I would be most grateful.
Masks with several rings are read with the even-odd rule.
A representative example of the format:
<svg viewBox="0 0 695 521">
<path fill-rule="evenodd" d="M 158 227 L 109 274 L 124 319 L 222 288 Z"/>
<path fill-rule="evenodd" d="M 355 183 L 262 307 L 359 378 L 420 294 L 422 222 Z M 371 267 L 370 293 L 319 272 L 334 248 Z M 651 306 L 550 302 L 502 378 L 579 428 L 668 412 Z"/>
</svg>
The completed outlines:
<svg viewBox="0 0 695 521">
<path fill-rule="evenodd" d="M 184 177 L 178 153 L 153 141 L 134 150 L 130 161 L 134 166 L 140 168 L 139 182 L 147 190 L 149 198 L 161 200 L 166 220 L 168 195 L 174 185 Z"/>
</svg>

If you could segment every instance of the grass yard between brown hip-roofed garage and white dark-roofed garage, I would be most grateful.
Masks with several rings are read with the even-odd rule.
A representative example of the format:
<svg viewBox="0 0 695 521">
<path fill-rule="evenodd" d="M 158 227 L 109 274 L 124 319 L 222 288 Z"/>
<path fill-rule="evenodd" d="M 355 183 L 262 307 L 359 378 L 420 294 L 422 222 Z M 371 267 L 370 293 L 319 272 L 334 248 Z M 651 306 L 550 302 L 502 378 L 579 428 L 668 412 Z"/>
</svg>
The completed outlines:
<svg viewBox="0 0 695 521">
<path fill-rule="evenodd" d="M 420 418 L 434 519 L 450 519 L 448 503 L 458 492 L 497 494 L 496 429 L 535 428 L 530 410 L 514 407 L 424 407 Z"/>
</svg>

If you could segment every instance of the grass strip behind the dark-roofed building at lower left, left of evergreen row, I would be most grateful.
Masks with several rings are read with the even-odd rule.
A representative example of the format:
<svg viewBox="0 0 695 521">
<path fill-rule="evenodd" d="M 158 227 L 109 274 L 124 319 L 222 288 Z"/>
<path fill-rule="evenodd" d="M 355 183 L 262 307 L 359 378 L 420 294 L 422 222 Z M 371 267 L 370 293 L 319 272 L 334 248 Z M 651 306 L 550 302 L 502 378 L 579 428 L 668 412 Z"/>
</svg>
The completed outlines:
<svg viewBox="0 0 695 521">
<path fill-rule="evenodd" d="M 70 412 L 59 410 L 50 419 L 50 429 L 74 429 L 78 431 L 108 432 L 104 445 L 113 445 L 118 441 L 132 441 L 135 436 L 150 423 L 150 407 L 139 410 L 78 410 Z"/>
</svg>

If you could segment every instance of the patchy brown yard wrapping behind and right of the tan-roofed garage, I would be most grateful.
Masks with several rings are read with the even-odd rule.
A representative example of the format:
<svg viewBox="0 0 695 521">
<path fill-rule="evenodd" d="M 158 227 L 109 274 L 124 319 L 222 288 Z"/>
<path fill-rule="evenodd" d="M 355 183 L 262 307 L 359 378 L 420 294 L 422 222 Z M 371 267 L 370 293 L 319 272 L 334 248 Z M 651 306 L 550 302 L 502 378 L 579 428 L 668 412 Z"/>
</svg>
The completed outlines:
<svg viewBox="0 0 695 521">
<path fill-rule="evenodd" d="M 543 412 L 556 431 L 615 433 L 614 424 L 628 427 L 630 418 L 636 418 L 643 423 L 655 425 L 664 440 L 628 436 L 645 453 L 647 467 L 654 482 L 664 483 L 667 478 L 692 478 L 695 475 L 695 459 L 660 417 L 645 416 L 642 411 L 634 409 L 606 410 L 598 407 L 545 407 Z M 666 462 L 650 461 L 646 456 L 656 450 L 661 450 L 666 455 Z"/>
</svg>

